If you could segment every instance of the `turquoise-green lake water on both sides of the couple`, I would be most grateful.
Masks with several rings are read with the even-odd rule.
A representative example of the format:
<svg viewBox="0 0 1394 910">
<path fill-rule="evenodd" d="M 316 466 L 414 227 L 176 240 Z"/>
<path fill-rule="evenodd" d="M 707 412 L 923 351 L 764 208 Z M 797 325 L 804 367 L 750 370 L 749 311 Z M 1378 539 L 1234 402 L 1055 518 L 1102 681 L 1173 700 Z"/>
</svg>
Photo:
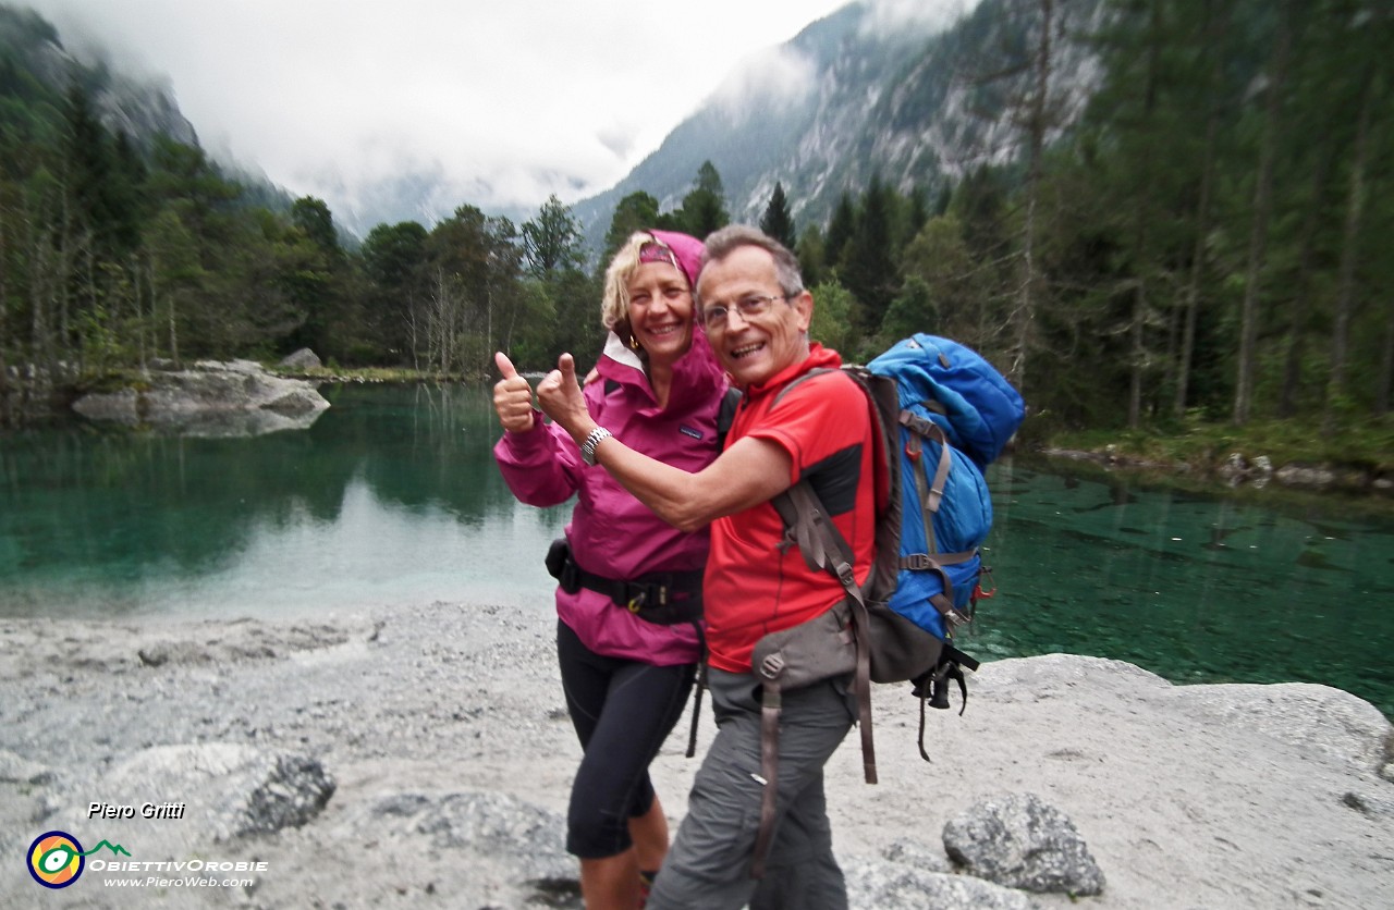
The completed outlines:
<svg viewBox="0 0 1394 910">
<path fill-rule="evenodd" d="M 551 610 L 570 506 L 519 504 L 487 389 L 346 386 L 305 431 L 194 439 L 72 421 L 0 436 L 0 616 Z M 962 647 L 1177 683 L 1312 681 L 1394 716 L 1394 521 L 994 465 L 998 595 Z"/>
</svg>

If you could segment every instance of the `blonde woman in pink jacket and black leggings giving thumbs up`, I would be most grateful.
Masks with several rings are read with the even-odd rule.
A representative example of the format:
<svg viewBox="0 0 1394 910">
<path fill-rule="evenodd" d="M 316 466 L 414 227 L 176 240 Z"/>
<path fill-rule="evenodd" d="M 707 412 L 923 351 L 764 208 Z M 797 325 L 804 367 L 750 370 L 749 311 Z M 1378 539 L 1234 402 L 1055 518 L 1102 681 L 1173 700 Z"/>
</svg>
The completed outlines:
<svg viewBox="0 0 1394 910">
<path fill-rule="evenodd" d="M 701 241 L 640 231 L 605 275 L 609 337 L 585 404 L 627 446 L 684 471 L 718 454 L 726 390 L 694 322 Z M 643 906 L 668 851 L 668 819 L 648 765 L 682 715 L 700 656 L 707 531 L 661 521 L 599 467 L 594 435 L 580 447 L 542 422 L 503 354 L 493 449 L 513 493 L 531 506 L 577 496 L 565 541 L 548 553 L 556 589 L 556 649 L 584 757 L 572 785 L 566 847 L 581 861 L 590 910 Z"/>
</svg>

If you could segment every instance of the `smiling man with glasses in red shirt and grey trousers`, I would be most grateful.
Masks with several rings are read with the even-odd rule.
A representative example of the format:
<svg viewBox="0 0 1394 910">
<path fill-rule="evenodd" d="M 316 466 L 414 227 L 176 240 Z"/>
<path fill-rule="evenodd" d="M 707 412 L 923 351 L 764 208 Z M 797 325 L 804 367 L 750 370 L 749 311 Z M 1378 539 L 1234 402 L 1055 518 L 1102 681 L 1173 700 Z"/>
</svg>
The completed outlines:
<svg viewBox="0 0 1394 910">
<path fill-rule="evenodd" d="M 684 531 L 711 524 L 703 599 L 718 732 L 648 907 L 839 910 L 846 886 L 832 856 L 822 766 L 856 716 L 849 674 L 783 694 L 778 821 L 757 882 L 750 861 L 765 780 L 760 679 L 750 655 L 763 635 L 820 616 L 845 594 L 829 573 L 809 569 L 797 546 L 781 546 L 783 521 L 771 499 L 807 478 L 852 545 L 857 581 L 870 571 L 870 412 L 861 390 L 836 369 L 836 351 L 809 340 L 813 295 L 793 254 L 735 226 L 707 238 L 703 261 L 698 321 L 744 392 L 717 461 L 690 474 L 626 447 L 585 411 L 569 354 L 538 385 L 538 399 L 584 458 L 605 467 L 661 518 Z M 809 376 L 814 369 L 825 372 Z"/>
</svg>

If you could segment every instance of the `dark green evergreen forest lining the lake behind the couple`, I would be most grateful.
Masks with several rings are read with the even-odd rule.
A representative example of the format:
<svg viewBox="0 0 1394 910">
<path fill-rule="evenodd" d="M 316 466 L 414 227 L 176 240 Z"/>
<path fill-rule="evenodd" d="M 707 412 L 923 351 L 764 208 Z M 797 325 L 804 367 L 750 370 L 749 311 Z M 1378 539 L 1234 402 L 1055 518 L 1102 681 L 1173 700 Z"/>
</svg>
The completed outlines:
<svg viewBox="0 0 1394 910">
<path fill-rule="evenodd" d="M 1002 49 L 1001 72 L 1026 77 L 1001 92 L 1009 159 L 934 185 L 874 176 L 825 223 L 797 223 L 774 185 L 761 227 L 800 258 L 814 337 L 848 360 L 910 332 L 963 341 L 1022 389 L 1036 435 L 1264 421 L 1388 440 L 1387 0 L 1110 0 L 1069 36 L 1052 25 L 1069 0 L 1023 1 L 1034 26 Z M 1101 72 L 1061 128 L 1066 38 Z M 54 387 L 301 347 L 441 378 L 487 378 L 493 350 L 585 365 L 608 252 L 640 227 L 730 220 L 708 162 L 671 210 L 625 196 L 605 251 L 556 196 L 521 224 L 461 201 L 351 238 L 321 199 L 277 202 L 197 146 L 113 134 L 92 78 L 56 89 L 0 46 L 0 422 Z"/>
</svg>

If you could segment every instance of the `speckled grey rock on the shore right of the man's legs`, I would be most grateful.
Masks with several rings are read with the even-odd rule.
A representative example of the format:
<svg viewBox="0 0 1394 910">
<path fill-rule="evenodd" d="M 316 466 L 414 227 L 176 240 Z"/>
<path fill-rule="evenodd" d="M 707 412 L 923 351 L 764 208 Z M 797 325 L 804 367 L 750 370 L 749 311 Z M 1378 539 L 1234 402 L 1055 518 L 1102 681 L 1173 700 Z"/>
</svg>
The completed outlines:
<svg viewBox="0 0 1394 910">
<path fill-rule="evenodd" d="M 967 872 L 1036 893 L 1098 895 L 1104 874 L 1064 812 L 1034 793 L 976 803 L 944 826 L 944 849 Z"/>
</svg>

